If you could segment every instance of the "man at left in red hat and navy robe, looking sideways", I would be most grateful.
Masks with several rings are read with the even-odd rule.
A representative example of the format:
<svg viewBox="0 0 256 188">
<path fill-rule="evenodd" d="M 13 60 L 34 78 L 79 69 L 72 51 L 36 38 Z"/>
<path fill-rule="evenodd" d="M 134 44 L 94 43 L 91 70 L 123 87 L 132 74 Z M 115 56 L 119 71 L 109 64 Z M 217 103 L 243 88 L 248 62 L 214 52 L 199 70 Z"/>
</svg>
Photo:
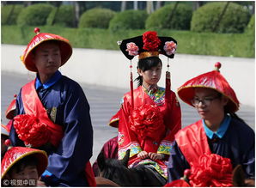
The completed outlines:
<svg viewBox="0 0 256 188">
<path fill-rule="evenodd" d="M 42 149 L 49 155 L 42 180 L 51 186 L 94 185 L 89 159 L 93 129 L 80 85 L 58 70 L 72 54 L 68 39 L 35 28 L 21 60 L 36 72 L 21 88 L 10 131 L 14 146 Z"/>
</svg>

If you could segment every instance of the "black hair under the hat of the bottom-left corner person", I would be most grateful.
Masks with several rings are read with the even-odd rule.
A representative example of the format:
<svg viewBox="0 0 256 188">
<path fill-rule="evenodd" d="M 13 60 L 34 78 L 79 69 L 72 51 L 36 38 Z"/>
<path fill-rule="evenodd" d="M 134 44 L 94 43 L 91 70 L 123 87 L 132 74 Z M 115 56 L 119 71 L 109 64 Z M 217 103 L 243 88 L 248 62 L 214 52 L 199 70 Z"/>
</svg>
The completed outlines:
<svg viewBox="0 0 256 188">
<path fill-rule="evenodd" d="M 38 160 L 34 155 L 26 156 L 20 161 L 17 161 L 13 167 L 10 168 L 8 173 L 11 173 L 15 170 L 15 173 L 20 173 L 27 166 L 36 166 L 38 165 Z"/>
</svg>

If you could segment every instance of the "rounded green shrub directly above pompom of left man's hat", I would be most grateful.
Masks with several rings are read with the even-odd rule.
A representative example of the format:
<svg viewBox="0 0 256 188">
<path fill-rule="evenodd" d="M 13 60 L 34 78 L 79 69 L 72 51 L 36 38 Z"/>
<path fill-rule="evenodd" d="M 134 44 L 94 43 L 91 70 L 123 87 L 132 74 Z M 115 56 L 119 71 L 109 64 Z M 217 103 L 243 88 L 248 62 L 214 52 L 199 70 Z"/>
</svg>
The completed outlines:
<svg viewBox="0 0 256 188">
<path fill-rule="evenodd" d="M 43 26 L 46 25 L 48 15 L 53 6 L 47 3 L 36 3 L 21 10 L 17 24 L 20 26 Z"/>
</svg>

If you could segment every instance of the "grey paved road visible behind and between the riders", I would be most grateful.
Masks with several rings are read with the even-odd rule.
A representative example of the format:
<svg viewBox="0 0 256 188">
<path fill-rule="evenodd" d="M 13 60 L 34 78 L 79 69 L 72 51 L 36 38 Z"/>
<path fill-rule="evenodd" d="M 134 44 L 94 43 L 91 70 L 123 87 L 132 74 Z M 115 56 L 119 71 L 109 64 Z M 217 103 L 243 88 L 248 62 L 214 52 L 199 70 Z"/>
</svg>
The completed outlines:
<svg viewBox="0 0 256 188">
<path fill-rule="evenodd" d="M 14 94 L 18 94 L 22 85 L 34 79 L 34 74 L 19 75 L 9 72 L 1 72 L 1 121 L 6 124 L 8 119 L 4 117 L 4 112 L 13 99 Z M 91 107 L 91 119 L 94 127 L 94 154 L 91 162 L 94 162 L 99 154 L 102 145 L 108 139 L 117 135 L 117 129 L 107 125 L 109 118 L 119 110 L 119 100 L 126 90 L 119 88 L 107 88 L 102 86 L 88 85 L 80 83 L 87 96 Z M 180 101 L 182 110 L 182 124 L 192 124 L 198 120 L 198 113 L 190 106 Z M 255 109 L 252 106 L 241 106 L 237 113 L 247 124 L 255 127 Z"/>
</svg>

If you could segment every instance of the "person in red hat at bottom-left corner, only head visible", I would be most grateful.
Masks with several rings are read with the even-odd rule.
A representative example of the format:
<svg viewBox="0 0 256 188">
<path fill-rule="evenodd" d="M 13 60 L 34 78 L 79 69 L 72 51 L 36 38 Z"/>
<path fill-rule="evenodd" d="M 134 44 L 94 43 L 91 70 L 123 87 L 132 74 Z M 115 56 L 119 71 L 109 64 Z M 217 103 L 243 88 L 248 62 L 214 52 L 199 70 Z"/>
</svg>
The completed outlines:
<svg viewBox="0 0 256 188">
<path fill-rule="evenodd" d="M 44 186 L 39 178 L 46 167 L 45 151 L 13 147 L 6 152 L 1 163 L 2 186 Z"/>
</svg>

